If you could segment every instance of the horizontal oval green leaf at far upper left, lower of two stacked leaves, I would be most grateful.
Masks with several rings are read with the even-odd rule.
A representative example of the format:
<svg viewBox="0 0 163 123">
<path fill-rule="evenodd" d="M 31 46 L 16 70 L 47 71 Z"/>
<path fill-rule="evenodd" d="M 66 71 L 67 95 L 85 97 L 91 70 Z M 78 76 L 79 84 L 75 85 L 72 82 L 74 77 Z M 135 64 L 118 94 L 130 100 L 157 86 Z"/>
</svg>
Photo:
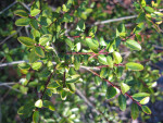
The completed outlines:
<svg viewBox="0 0 163 123">
<path fill-rule="evenodd" d="M 15 22 L 16 26 L 27 26 L 29 25 L 30 20 L 29 19 L 18 19 Z"/>
</svg>

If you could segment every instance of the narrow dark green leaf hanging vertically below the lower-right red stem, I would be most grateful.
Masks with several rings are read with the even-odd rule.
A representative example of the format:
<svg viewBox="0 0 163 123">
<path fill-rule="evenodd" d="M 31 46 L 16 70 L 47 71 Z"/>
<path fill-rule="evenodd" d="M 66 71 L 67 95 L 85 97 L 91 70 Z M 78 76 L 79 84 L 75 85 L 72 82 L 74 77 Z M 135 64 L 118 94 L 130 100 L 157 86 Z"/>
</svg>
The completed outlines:
<svg viewBox="0 0 163 123">
<path fill-rule="evenodd" d="M 126 98 L 124 95 L 118 96 L 118 106 L 122 111 L 126 110 Z"/>
</svg>

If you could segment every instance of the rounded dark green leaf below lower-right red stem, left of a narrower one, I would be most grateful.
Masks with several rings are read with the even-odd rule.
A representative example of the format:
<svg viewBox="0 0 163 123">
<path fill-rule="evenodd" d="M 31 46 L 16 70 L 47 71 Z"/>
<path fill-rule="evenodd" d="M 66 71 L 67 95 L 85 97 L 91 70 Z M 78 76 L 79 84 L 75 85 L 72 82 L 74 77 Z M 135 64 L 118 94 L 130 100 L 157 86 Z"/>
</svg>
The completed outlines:
<svg viewBox="0 0 163 123">
<path fill-rule="evenodd" d="M 111 99 L 116 96 L 116 89 L 114 87 L 109 87 L 106 89 L 106 99 Z"/>
</svg>

